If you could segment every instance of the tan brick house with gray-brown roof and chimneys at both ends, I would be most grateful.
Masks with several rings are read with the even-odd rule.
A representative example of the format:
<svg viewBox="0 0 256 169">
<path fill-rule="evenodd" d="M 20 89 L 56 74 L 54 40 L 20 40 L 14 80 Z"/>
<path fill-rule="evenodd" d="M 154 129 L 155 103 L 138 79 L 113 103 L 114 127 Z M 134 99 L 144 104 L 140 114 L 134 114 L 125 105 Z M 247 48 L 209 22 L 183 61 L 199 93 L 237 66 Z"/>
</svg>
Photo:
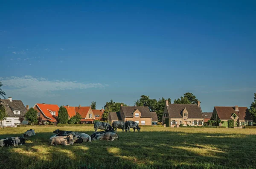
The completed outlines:
<svg viewBox="0 0 256 169">
<path fill-rule="evenodd" d="M 169 118 L 170 127 L 175 125 L 204 125 L 204 116 L 198 104 L 169 104 L 166 100 L 162 121 L 165 123 L 166 118 Z"/>
</svg>

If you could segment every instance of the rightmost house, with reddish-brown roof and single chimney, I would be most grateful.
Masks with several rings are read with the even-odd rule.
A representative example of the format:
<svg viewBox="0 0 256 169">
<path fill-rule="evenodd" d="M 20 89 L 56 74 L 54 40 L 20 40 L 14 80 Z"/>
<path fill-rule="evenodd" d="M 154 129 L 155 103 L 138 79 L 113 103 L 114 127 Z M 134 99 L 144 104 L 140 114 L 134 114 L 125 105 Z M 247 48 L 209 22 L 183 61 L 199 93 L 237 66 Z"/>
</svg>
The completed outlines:
<svg viewBox="0 0 256 169">
<path fill-rule="evenodd" d="M 212 118 L 215 121 L 218 121 L 219 119 L 224 121 L 221 123 L 221 126 L 225 127 L 228 127 L 228 120 L 234 120 L 234 127 L 253 125 L 253 119 L 250 117 L 250 113 L 247 107 L 215 106 L 213 109 Z"/>
</svg>

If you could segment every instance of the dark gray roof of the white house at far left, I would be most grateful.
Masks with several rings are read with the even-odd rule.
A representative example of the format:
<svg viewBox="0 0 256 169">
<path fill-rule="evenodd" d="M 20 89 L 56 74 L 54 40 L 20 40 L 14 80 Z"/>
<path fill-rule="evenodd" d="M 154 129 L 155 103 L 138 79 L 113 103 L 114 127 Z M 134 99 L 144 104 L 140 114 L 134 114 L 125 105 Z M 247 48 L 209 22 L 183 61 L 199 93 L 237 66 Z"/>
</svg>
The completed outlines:
<svg viewBox="0 0 256 169">
<path fill-rule="evenodd" d="M 9 99 L 0 99 L 0 104 L 5 107 L 8 117 L 20 117 L 25 115 L 25 113 L 27 112 L 27 109 L 21 100 L 10 101 Z M 14 110 L 20 110 L 20 114 L 14 114 Z"/>
</svg>

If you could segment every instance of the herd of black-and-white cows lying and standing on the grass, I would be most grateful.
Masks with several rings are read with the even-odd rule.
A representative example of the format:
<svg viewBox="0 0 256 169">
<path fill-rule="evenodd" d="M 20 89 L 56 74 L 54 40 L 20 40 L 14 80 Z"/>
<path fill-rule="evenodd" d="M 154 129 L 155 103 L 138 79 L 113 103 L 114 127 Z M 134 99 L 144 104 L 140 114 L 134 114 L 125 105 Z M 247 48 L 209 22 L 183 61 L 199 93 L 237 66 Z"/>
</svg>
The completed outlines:
<svg viewBox="0 0 256 169">
<path fill-rule="evenodd" d="M 140 132 L 139 125 L 134 121 L 114 121 L 112 126 L 105 122 L 96 122 L 94 123 L 93 129 L 95 130 L 92 135 L 87 135 L 82 132 L 73 132 L 73 131 L 64 131 L 64 130 L 55 130 L 49 139 L 50 145 L 73 145 L 73 144 L 81 144 L 83 142 L 91 142 L 94 140 L 106 140 L 106 141 L 114 141 L 115 139 L 119 140 L 119 135 L 116 133 L 117 129 L 122 129 L 122 131 L 130 132 L 130 129 L 137 129 Z M 97 132 L 98 129 L 104 130 L 101 132 Z M 0 140 L 0 147 L 4 146 L 20 146 L 25 144 L 26 138 L 35 135 L 35 130 L 27 130 L 20 137 L 9 137 L 3 138 Z"/>
</svg>

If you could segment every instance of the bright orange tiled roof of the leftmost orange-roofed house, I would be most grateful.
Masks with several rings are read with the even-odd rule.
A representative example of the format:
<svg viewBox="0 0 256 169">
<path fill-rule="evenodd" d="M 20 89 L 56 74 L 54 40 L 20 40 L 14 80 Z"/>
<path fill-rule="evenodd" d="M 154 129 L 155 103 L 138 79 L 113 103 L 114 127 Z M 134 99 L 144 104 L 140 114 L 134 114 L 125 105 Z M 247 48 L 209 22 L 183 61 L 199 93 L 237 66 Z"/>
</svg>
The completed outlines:
<svg viewBox="0 0 256 169">
<path fill-rule="evenodd" d="M 50 113 L 50 111 L 55 112 L 55 116 L 58 116 L 58 110 L 59 107 L 57 104 L 35 104 L 41 110 L 41 112 L 50 120 L 53 120 L 52 122 L 56 122 L 57 119 Z M 50 111 L 49 111 L 50 110 Z"/>
</svg>

